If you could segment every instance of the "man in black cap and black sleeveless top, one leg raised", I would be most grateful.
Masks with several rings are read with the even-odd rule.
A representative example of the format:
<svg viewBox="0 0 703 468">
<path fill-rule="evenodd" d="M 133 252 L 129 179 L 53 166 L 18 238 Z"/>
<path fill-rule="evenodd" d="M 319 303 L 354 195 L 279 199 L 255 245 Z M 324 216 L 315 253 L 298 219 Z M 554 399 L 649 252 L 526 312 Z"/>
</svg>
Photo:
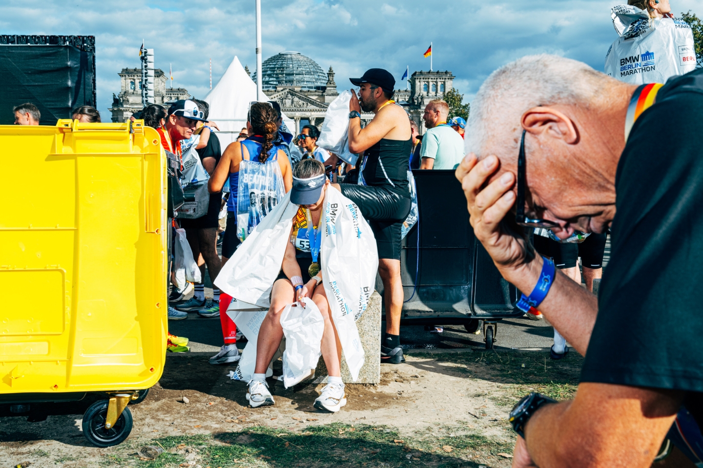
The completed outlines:
<svg viewBox="0 0 703 468">
<path fill-rule="evenodd" d="M 359 185 L 335 185 L 359 206 L 369 220 L 378 246 L 378 272 L 385 290 L 386 335 L 381 342 L 381 362 L 405 361 L 400 347 L 403 285 L 400 279 L 401 226 L 410 213 L 408 155 L 413 147 L 408 114 L 395 104 L 393 75 L 372 68 L 359 79 L 359 98 L 352 90 L 349 101 L 349 151 L 360 154 Z M 373 112 L 361 128 L 360 112 Z"/>
</svg>

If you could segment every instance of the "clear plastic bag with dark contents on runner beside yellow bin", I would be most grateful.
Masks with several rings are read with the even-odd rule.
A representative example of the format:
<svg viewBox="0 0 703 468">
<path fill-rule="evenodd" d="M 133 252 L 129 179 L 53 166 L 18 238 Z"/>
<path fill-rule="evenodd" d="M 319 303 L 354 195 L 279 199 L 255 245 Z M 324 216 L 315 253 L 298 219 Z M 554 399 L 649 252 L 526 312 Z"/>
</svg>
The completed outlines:
<svg viewBox="0 0 703 468">
<path fill-rule="evenodd" d="M 200 155 L 195 150 L 200 142 L 200 135 L 193 135 L 193 142 L 181 157 L 183 171 L 181 187 L 183 188 L 183 205 L 176 210 L 176 218 L 200 218 L 207 214 L 210 194 L 207 192 L 207 181 L 210 176 L 202 167 Z"/>
</svg>

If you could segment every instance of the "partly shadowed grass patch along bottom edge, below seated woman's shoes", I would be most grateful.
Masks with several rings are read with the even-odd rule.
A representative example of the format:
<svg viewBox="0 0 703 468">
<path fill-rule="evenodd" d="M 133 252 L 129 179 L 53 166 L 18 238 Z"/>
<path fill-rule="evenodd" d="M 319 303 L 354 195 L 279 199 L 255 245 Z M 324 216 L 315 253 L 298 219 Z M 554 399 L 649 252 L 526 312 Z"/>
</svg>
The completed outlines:
<svg viewBox="0 0 703 468">
<path fill-rule="evenodd" d="M 325 424 L 292 432 L 250 427 L 239 432 L 200 436 L 172 436 L 150 442 L 165 448 L 156 460 L 103 460 L 103 465 L 129 464 L 138 468 L 177 468 L 195 459 L 203 468 L 230 467 L 401 467 L 422 462 L 429 467 L 509 466 L 498 453 L 510 453 L 513 439 L 492 439 L 464 433 L 463 427 L 418 432 L 401 440 L 393 429 L 366 424 Z M 134 450 L 134 449 L 126 449 Z M 133 461 L 134 460 L 134 461 Z M 500 461 L 499 461 L 500 460 Z"/>
</svg>

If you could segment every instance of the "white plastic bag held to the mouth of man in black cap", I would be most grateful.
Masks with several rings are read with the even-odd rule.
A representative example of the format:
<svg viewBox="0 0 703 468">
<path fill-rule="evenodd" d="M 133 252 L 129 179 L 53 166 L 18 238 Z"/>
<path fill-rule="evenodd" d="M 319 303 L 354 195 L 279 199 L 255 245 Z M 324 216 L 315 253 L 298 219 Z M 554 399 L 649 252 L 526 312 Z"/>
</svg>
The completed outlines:
<svg viewBox="0 0 703 468">
<path fill-rule="evenodd" d="M 349 152 L 349 100 L 351 91 L 344 90 L 330 102 L 325 112 L 325 122 L 322 124 L 318 147 L 339 156 L 342 161 L 356 166 L 356 154 Z"/>
</svg>

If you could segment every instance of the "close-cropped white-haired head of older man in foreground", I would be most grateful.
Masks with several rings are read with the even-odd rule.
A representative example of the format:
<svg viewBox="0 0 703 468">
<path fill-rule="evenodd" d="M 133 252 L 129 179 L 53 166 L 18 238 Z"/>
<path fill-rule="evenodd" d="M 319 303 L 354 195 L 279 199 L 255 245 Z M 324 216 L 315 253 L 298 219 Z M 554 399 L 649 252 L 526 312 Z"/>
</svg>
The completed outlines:
<svg viewBox="0 0 703 468">
<path fill-rule="evenodd" d="M 479 89 L 465 128 L 466 152 L 498 156 L 494 178 L 516 174 L 525 131 L 527 208 L 590 231 L 585 218 L 608 222 L 614 215 L 614 175 L 634 88 L 576 60 L 520 58 Z M 605 210 L 608 219 L 601 216 Z"/>
</svg>

